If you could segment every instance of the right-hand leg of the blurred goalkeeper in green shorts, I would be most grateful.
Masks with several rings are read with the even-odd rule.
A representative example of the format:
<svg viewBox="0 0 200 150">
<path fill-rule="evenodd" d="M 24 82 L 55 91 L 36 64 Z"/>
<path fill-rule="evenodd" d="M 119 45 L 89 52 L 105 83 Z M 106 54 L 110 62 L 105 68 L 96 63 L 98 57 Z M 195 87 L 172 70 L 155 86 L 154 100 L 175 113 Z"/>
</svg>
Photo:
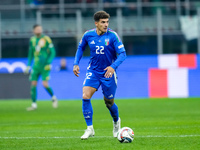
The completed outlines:
<svg viewBox="0 0 200 150">
<path fill-rule="evenodd" d="M 42 85 L 46 89 L 47 93 L 51 96 L 52 99 L 52 106 L 53 108 L 58 107 L 58 100 L 54 95 L 52 88 L 49 86 L 49 79 L 50 79 L 50 71 L 43 71 L 42 72 Z"/>
</svg>

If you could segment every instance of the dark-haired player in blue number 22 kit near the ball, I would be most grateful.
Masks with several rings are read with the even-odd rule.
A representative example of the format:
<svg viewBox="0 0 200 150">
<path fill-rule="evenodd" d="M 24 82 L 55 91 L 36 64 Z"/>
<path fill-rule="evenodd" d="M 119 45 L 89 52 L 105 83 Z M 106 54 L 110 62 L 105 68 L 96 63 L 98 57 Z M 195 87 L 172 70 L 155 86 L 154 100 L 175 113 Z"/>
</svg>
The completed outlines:
<svg viewBox="0 0 200 150">
<path fill-rule="evenodd" d="M 108 28 L 110 15 L 105 11 L 98 11 L 94 14 L 95 29 L 86 31 L 79 43 L 73 72 L 78 77 L 79 61 L 85 47 L 90 47 L 90 61 L 87 67 L 86 77 L 83 82 L 82 111 L 87 129 L 81 139 L 88 139 L 94 136 L 93 108 L 91 105 L 92 95 L 101 86 L 106 107 L 113 118 L 113 136 L 121 128 L 118 107 L 114 102 L 117 88 L 117 67 L 125 60 L 126 52 L 124 45 L 116 32 Z M 118 56 L 117 56 L 118 55 Z"/>
</svg>

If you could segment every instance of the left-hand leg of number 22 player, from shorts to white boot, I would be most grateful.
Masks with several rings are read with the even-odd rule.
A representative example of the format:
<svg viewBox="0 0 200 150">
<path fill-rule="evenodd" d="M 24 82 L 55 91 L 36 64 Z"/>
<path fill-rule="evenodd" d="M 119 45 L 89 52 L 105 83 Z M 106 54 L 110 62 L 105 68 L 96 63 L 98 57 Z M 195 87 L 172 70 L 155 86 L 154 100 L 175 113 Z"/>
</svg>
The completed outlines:
<svg viewBox="0 0 200 150">
<path fill-rule="evenodd" d="M 83 99 L 82 99 L 82 111 L 87 124 L 87 129 L 81 139 L 88 139 L 90 136 L 94 136 L 93 128 L 93 108 L 91 104 L 92 95 L 97 91 L 100 86 L 100 82 L 94 72 L 87 71 L 86 77 L 83 83 Z"/>
</svg>

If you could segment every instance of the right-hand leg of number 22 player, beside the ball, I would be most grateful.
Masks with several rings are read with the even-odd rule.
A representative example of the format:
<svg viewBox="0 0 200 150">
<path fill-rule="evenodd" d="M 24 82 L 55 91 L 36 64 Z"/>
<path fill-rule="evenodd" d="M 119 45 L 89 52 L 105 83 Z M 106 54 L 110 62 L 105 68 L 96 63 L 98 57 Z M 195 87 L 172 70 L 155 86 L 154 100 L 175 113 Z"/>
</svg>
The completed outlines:
<svg viewBox="0 0 200 150">
<path fill-rule="evenodd" d="M 113 136 L 117 137 L 117 132 L 121 128 L 121 119 L 119 118 L 118 106 L 114 102 L 115 92 L 117 89 L 116 73 L 110 79 L 102 79 L 102 90 L 106 107 L 113 118 Z"/>
</svg>

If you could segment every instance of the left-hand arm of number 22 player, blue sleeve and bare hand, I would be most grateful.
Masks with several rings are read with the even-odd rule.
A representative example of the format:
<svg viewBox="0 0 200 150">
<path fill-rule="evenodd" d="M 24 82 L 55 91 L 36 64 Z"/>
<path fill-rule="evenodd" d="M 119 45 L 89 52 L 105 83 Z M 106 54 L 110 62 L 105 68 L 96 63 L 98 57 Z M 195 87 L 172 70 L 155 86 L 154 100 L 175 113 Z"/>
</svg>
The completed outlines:
<svg viewBox="0 0 200 150">
<path fill-rule="evenodd" d="M 87 46 L 87 41 L 86 41 L 86 35 L 83 35 L 81 41 L 79 42 L 78 49 L 76 51 L 75 55 L 75 60 L 74 60 L 74 67 L 73 67 L 73 72 L 75 76 L 79 77 L 79 62 L 83 56 L 83 52 L 85 50 L 85 47 Z"/>
</svg>

